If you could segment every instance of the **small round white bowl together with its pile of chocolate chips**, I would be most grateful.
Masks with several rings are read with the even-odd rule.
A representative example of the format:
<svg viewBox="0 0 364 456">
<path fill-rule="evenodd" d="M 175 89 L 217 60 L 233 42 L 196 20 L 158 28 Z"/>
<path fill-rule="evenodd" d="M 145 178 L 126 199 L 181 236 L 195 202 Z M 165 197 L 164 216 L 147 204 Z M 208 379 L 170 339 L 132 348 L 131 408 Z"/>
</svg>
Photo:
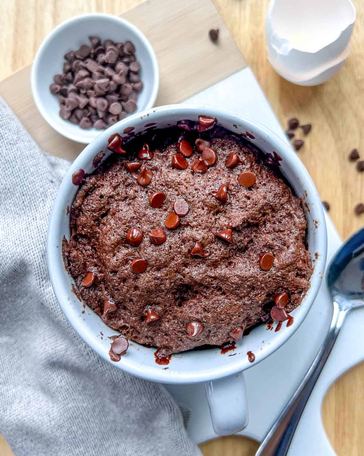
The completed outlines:
<svg viewBox="0 0 364 456">
<path fill-rule="evenodd" d="M 157 57 L 130 22 L 105 14 L 77 16 L 41 44 L 31 88 L 51 127 L 88 144 L 109 126 L 154 106 Z"/>
</svg>

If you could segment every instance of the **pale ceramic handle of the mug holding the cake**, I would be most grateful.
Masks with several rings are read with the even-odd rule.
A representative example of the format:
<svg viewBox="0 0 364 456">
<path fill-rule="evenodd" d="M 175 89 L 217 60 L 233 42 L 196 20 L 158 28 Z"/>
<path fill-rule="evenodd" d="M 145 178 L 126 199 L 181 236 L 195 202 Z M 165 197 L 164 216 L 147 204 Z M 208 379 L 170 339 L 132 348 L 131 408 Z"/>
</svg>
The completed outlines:
<svg viewBox="0 0 364 456">
<path fill-rule="evenodd" d="M 230 435 L 248 425 L 248 403 L 243 372 L 205 383 L 213 429 Z"/>
</svg>

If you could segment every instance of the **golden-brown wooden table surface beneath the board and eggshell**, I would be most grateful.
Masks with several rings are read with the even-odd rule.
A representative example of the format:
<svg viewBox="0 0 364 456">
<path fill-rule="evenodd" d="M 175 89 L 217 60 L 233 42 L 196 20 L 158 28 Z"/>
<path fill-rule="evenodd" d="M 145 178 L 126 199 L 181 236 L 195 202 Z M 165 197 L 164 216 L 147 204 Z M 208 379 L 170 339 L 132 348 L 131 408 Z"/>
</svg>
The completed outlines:
<svg viewBox="0 0 364 456">
<path fill-rule="evenodd" d="M 330 203 L 330 215 L 343 239 L 364 222 L 364 215 L 354 215 L 355 204 L 364 202 L 364 174 L 348 161 L 354 148 L 364 159 L 364 0 L 353 1 L 357 19 L 348 61 L 329 82 L 303 88 L 280 78 L 267 60 L 264 21 L 268 0 L 213 0 L 282 125 L 291 117 L 313 125 L 298 155 L 321 198 Z M 0 0 L 0 78 L 31 63 L 44 37 L 60 22 L 88 12 L 120 14 L 141 2 Z M 364 363 L 332 385 L 322 415 L 338 455 L 364 455 Z M 205 456 L 253 456 L 257 447 L 256 442 L 236 436 L 201 445 Z M 0 454 L 13 455 L 1 435 Z"/>
</svg>

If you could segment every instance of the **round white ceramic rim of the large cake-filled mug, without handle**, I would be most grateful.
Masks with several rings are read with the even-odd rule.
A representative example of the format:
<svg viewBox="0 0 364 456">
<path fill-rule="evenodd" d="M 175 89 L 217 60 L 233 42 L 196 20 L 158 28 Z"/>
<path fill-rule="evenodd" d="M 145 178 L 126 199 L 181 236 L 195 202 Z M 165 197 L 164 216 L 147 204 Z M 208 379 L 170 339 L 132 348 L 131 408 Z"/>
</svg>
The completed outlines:
<svg viewBox="0 0 364 456">
<path fill-rule="evenodd" d="M 280 331 L 276 333 L 274 338 L 274 343 L 271 344 L 269 347 L 265 346 L 264 351 L 261 353 L 256 353 L 256 361 L 255 363 L 251 364 L 247 362 L 247 357 L 245 358 L 230 358 L 232 361 L 231 364 L 227 366 L 221 366 L 218 363 L 212 363 L 211 367 L 205 369 L 204 371 L 200 371 L 198 374 L 193 372 L 193 367 L 188 373 L 181 373 L 178 372 L 176 369 L 173 371 L 170 370 L 162 370 L 161 366 L 155 364 L 155 367 L 145 366 L 139 363 L 133 362 L 132 357 L 121 357 L 121 360 L 118 363 L 111 362 L 110 358 L 107 356 L 107 353 L 103 353 L 98 349 L 96 344 L 96 334 L 91 334 L 90 331 L 86 328 L 86 325 L 80 325 L 79 316 L 70 315 L 68 309 L 70 308 L 70 303 L 68 302 L 66 296 L 69 294 L 68 290 L 64 290 L 60 285 L 60 281 L 57 279 L 57 265 L 54 264 L 54 258 L 59 256 L 60 248 L 56 248 L 56 246 L 61 246 L 61 239 L 56 237 L 56 227 L 57 224 L 60 223 L 62 217 L 65 217 L 66 214 L 66 201 L 69 194 L 73 191 L 74 186 L 71 183 L 71 176 L 72 174 L 80 168 L 84 168 L 87 163 L 92 161 L 92 158 L 96 153 L 100 150 L 99 145 L 94 145 L 97 142 L 103 142 L 105 145 L 107 144 L 107 138 L 109 135 L 116 131 L 122 131 L 128 125 L 139 125 L 145 122 L 148 119 L 148 122 L 153 122 L 153 116 L 156 117 L 159 114 L 180 114 L 180 119 L 186 118 L 196 118 L 197 115 L 204 113 L 208 115 L 212 115 L 217 117 L 217 119 L 224 118 L 228 119 L 231 124 L 239 124 L 244 123 L 252 127 L 252 131 L 258 131 L 259 134 L 262 134 L 269 142 L 269 147 L 272 150 L 277 150 L 278 153 L 282 152 L 283 159 L 288 162 L 288 166 L 291 169 L 294 169 L 295 174 L 298 180 L 304 181 L 304 188 L 309 193 L 310 197 L 313 199 L 313 204 L 311 207 L 310 217 L 316 218 L 319 220 L 319 224 L 315 227 L 315 236 L 318 238 L 318 244 L 320 246 L 320 254 L 317 259 L 314 260 L 314 272 L 311 277 L 310 281 L 310 288 L 307 294 L 304 296 L 301 306 L 299 309 L 301 310 L 300 318 L 298 319 L 295 317 L 295 324 L 290 326 L 289 328 L 285 328 L 285 331 Z M 244 127 L 246 128 L 246 127 Z M 90 155 L 88 157 L 88 155 Z M 308 217 L 307 217 L 308 218 Z M 311 218 L 308 220 L 309 226 L 312 227 L 313 223 Z M 327 253 L 327 232 L 326 232 L 326 224 L 324 218 L 324 211 L 322 208 L 322 203 L 319 198 L 319 194 L 313 184 L 311 177 L 308 174 L 308 171 L 303 166 L 303 163 L 299 160 L 297 155 L 293 152 L 288 144 L 286 144 L 283 140 L 281 140 L 275 133 L 271 130 L 263 127 L 263 125 L 255 122 L 253 120 L 247 119 L 243 116 L 238 114 L 233 114 L 228 111 L 213 108 L 207 105 L 194 105 L 194 104 L 177 104 L 177 105 L 169 105 L 169 106 L 161 106 L 154 109 L 149 109 L 140 113 L 136 113 L 115 125 L 112 125 L 109 129 L 105 130 L 104 132 L 99 135 L 95 141 L 93 141 L 90 145 L 86 146 L 86 148 L 81 152 L 81 154 L 76 158 L 76 160 L 71 164 L 69 170 L 66 173 L 64 180 L 61 183 L 59 191 L 57 193 L 55 202 L 52 207 L 50 222 L 48 226 L 48 233 L 47 233 L 47 262 L 48 262 L 48 269 L 51 278 L 51 284 L 53 286 L 53 290 L 55 292 L 56 298 L 65 313 L 68 321 L 74 327 L 76 332 L 81 336 L 81 338 L 94 350 L 96 351 L 102 358 L 104 358 L 109 363 L 113 364 L 114 366 L 121 368 L 122 370 L 136 375 L 141 378 L 145 378 L 147 380 L 162 382 L 162 383 L 199 383 L 205 382 L 209 380 L 214 380 L 217 378 L 223 378 L 234 373 L 241 372 L 247 368 L 252 367 L 252 365 L 256 365 L 258 362 L 265 359 L 271 353 L 276 351 L 279 347 L 285 343 L 289 337 L 293 335 L 293 333 L 298 329 L 298 327 L 303 322 L 304 318 L 306 317 L 308 311 L 310 310 L 312 303 L 319 291 L 319 287 L 322 282 L 322 278 L 324 276 L 324 269 L 326 264 L 326 253 Z M 70 284 L 71 285 L 71 277 L 70 277 Z M 80 303 L 81 306 L 81 303 Z M 296 310 L 296 309 L 295 309 Z M 293 311 L 294 312 L 294 311 Z M 106 326 L 107 327 L 107 326 Z M 247 336 L 248 338 L 249 336 Z M 247 339 L 245 339 L 247 340 Z M 132 342 L 133 344 L 138 345 L 136 342 Z M 153 351 L 151 351 L 152 355 Z M 208 353 L 208 350 L 206 350 Z M 173 356 L 172 361 L 173 363 Z"/>
</svg>

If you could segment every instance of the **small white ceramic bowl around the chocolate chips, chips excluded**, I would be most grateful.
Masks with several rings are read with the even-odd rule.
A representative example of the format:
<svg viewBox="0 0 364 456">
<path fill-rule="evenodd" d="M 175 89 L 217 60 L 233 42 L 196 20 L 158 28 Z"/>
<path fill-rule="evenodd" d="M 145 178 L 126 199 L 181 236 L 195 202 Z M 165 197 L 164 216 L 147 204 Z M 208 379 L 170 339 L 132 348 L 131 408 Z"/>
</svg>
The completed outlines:
<svg viewBox="0 0 364 456">
<path fill-rule="evenodd" d="M 104 130 L 82 129 L 69 120 L 61 119 L 58 96 L 49 89 L 55 74 L 63 73 L 64 55 L 88 43 L 88 36 L 100 36 L 101 41 L 131 41 L 136 49 L 136 60 L 141 64 L 143 89 L 137 100 L 137 112 L 154 106 L 159 88 L 159 68 L 156 54 L 142 32 L 130 22 L 107 14 L 76 16 L 56 27 L 43 41 L 31 72 L 31 89 L 35 104 L 45 121 L 70 140 L 89 144 Z"/>
</svg>

